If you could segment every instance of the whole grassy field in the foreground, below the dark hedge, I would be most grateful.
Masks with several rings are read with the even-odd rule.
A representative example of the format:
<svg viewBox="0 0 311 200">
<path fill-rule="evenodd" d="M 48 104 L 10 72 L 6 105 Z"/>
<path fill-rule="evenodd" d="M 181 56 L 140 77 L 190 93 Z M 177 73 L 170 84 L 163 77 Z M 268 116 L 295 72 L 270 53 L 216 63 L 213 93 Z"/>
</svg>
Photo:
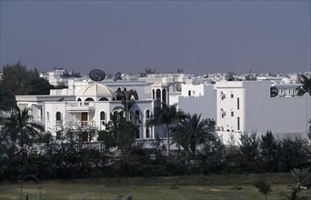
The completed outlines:
<svg viewBox="0 0 311 200">
<path fill-rule="evenodd" d="M 239 177 L 239 179 L 234 179 Z M 251 183 L 269 175 L 196 175 L 156 178 L 106 178 L 85 179 L 71 181 L 46 181 L 41 184 L 42 199 L 115 199 L 117 195 L 131 195 L 133 200 L 174 200 L 174 199 L 265 199 L 257 192 Z M 276 175 L 276 184 L 272 185 L 273 192 L 268 199 L 281 199 L 279 194 L 291 191 L 290 180 L 287 175 Z M 227 178 L 227 180 L 226 180 Z M 198 182 L 198 180 L 201 180 Z M 274 181 L 274 182 L 275 182 Z M 278 182 L 284 182 L 279 184 Z M 288 182 L 287 182 L 288 181 Z M 195 184 L 196 183 L 196 184 Z M 171 189 L 172 184 L 176 186 Z M 240 190 L 232 189 L 234 185 Z M 23 199 L 25 193 L 29 194 L 29 200 L 36 199 L 37 185 L 33 182 L 23 184 Z M 0 184 L 0 199 L 18 199 L 19 185 Z M 304 190 L 299 196 L 311 200 L 311 189 Z"/>
</svg>

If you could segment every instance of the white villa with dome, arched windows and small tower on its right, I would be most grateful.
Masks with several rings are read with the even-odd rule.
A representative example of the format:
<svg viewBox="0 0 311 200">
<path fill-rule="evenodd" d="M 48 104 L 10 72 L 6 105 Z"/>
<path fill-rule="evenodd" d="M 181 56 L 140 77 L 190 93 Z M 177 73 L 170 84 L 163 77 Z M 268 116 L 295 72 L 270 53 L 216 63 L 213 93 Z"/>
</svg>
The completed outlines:
<svg viewBox="0 0 311 200">
<path fill-rule="evenodd" d="M 15 97 L 17 105 L 31 108 L 34 119 L 45 125 L 46 132 L 61 139 L 64 130 L 68 128 L 85 133 L 87 129 L 105 129 L 104 124 L 110 121 L 110 114 L 115 107 L 122 106 L 118 95 L 124 94 L 128 100 L 135 99 L 132 112 L 138 118 L 135 119 L 133 115 L 129 118 L 139 127 L 136 138 L 152 139 L 157 136 L 165 137 L 165 129 L 161 126 L 147 127 L 145 122 L 153 114 L 156 103 L 169 104 L 170 88 L 175 90 L 175 78 L 169 79 L 167 75 L 147 80 L 125 77 L 122 81 L 107 79 L 97 83 L 75 78 L 68 81 L 68 88 L 51 90 L 50 95 Z M 183 83 L 183 77 L 176 80 L 178 84 Z M 88 137 L 86 135 L 78 139 L 86 141 Z"/>
</svg>

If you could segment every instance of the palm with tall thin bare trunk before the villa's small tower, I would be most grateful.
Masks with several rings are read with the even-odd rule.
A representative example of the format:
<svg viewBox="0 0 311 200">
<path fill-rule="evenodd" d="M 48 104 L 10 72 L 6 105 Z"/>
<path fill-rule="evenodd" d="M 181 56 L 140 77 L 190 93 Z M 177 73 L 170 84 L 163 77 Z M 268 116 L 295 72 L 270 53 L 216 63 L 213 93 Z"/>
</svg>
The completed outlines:
<svg viewBox="0 0 311 200">
<path fill-rule="evenodd" d="M 162 103 L 162 106 L 157 106 L 155 114 L 152 119 L 149 120 L 147 125 L 166 125 L 166 155 L 170 155 L 170 134 L 169 127 L 172 124 L 179 122 L 185 117 L 183 111 L 177 110 L 177 105 L 166 105 Z"/>
</svg>

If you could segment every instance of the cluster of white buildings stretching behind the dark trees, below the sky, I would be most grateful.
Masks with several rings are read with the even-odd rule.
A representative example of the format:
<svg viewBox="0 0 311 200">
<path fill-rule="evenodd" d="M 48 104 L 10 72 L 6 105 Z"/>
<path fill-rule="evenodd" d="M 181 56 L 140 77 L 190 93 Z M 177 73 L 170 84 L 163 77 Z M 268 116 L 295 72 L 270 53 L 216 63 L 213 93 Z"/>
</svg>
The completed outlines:
<svg viewBox="0 0 311 200">
<path fill-rule="evenodd" d="M 307 74 L 306 74 L 307 75 Z M 308 74 L 311 75 L 311 74 Z M 176 104 L 185 113 L 202 114 L 216 120 L 216 134 L 228 143 L 244 132 L 258 135 L 271 131 L 276 137 L 306 137 L 310 128 L 311 96 L 296 95 L 299 75 L 257 76 L 246 81 L 226 81 L 225 75 L 118 74 L 94 81 L 89 76 L 73 77 L 64 69 L 42 74 L 52 85 L 50 95 L 17 95 L 20 107 L 30 108 L 45 131 L 62 139 L 66 129 L 83 133 L 76 140 L 90 141 L 90 129 L 103 130 L 122 99 L 135 100 L 128 120 L 138 125 L 137 140 L 165 138 L 164 126 L 146 126 L 158 103 Z M 125 115 L 125 114 L 124 114 Z"/>
</svg>

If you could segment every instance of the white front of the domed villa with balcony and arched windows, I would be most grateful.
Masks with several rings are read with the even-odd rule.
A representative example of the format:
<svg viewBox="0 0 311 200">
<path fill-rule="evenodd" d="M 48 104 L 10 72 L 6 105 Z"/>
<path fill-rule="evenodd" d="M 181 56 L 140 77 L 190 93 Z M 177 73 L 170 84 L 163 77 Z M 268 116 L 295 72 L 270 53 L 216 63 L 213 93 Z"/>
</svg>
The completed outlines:
<svg viewBox="0 0 311 200">
<path fill-rule="evenodd" d="M 125 85 L 124 85 L 125 86 Z M 126 85 L 128 86 L 128 85 Z M 65 90 L 63 90 L 65 91 Z M 36 121 L 45 125 L 45 131 L 53 135 L 73 128 L 86 130 L 95 128 L 105 129 L 104 123 L 110 121 L 110 114 L 114 108 L 122 106 L 121 101 L 116 101 L 113 89 L 106 85 L 92 83 L 85 85 L 75 95 L 17 95 L 17 104 L 21 107 L 30 107 Z M 128 98 L 129 100 L 130 98 Z M 137 138 L 155 138 L 154 131 L 145 127 L 145 122 L 151 116 L 155 101 L 153 99 L 135 100 L 132 115 L 129 118 L 139 126 Z M 139 124 L 138 122 L 143 122 Z"/>
</svg>

